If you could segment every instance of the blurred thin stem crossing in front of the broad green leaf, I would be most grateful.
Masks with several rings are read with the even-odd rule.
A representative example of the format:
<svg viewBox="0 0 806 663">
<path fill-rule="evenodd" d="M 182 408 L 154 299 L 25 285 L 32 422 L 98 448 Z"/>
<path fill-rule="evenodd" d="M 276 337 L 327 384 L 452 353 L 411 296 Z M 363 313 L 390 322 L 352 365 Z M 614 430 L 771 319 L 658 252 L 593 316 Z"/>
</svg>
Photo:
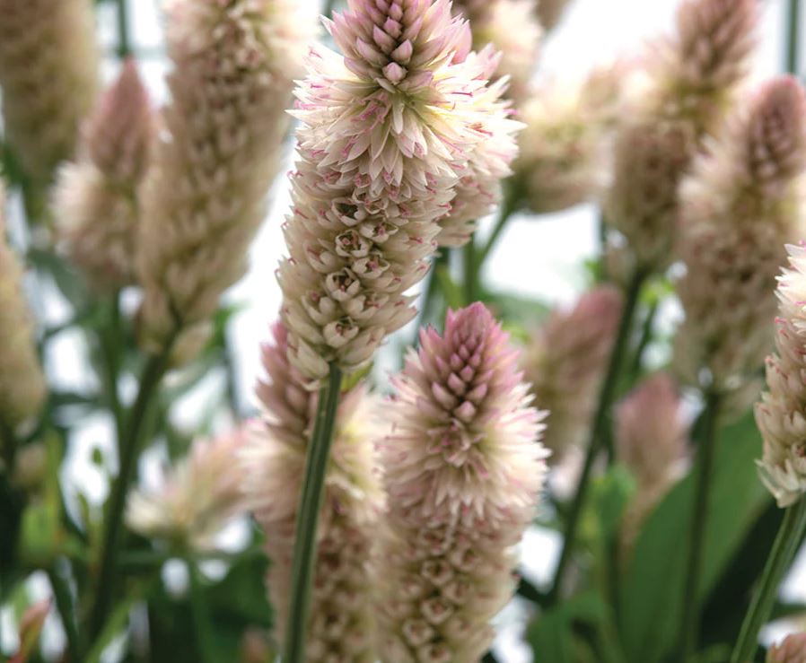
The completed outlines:
<svg viewBox="0 0 806 663">
<path fill-rule="evenodd" d="M 702 575 L 705 553 L 705 525 L 708 520 L 708 489 L 714 470 L 716 447 L 716 422 L 719 417 L 719 396 L 709 391 L 705 395 L 705 410 L 702 422 L 702 437 L 696 452 L 694 477 L 695 493 L 691 511 L 691 531 L 688 537 L 688 561 L 686 584 L 681 606 L 680 642 L 683 657 L 681 661 L 692 659 L 699 640 L 700 620 L 700 576 Z"/>
</svg>

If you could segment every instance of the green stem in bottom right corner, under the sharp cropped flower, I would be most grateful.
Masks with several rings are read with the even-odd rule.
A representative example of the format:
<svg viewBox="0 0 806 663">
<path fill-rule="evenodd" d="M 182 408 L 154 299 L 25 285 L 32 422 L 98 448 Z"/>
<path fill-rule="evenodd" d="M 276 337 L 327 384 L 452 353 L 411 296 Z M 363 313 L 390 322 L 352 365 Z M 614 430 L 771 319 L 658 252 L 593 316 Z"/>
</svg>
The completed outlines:
<svg viewBox="0 0 806 663">
<path fill-rule="evenodd" d="M 806 498 L 801 498 L 784 513 L 784 522 L 781 523 L 781 528 L 775 537 L 758 589 L 741 624 L 739 640 L 733 648 L 731 663 L 744 663 L 752 659 L 758 647 L 758 631 L 769 618 L 778 586 L 797 553 L 804 530 L 806 530 Z"/>
</svg>

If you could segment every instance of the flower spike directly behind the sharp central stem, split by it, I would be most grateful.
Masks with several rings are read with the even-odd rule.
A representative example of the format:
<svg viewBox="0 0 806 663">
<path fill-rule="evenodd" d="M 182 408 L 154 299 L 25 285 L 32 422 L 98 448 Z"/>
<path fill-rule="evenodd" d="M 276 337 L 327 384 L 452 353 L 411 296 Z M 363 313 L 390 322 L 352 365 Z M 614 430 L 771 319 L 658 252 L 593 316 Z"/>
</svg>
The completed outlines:
<svg viewBox="0 0 806 663">
<path fill-rule="evenodd" d="M 288 361 L 288 334 L 278 323 L 263 347 L 267 381 L 258 384 L 263 421 L 241 453 L 250 508 L 266 532 L 268 587 L 275 633 L 285 634 L 294 530 L 318 395 Z M 374 663 L 370 548 L 383 497 L 374 465 L 372 398 L 364 387 L 342 396 L 325 479 L 306 657 Z"/>
</svg>

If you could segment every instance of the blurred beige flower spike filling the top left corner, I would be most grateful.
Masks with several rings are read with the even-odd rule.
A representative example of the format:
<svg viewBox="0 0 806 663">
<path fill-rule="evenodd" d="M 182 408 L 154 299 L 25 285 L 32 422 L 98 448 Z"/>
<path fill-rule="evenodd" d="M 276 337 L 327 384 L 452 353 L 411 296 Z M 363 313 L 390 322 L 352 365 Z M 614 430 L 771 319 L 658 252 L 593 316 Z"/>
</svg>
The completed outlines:
<svg viewBox="0 0 806 663">
<path fill-rule="evenodd" d="M 42 183 L 73 156 L 95 100 L 93 8 L 92 0 L 0 0 L 4 136 Z"/>
</svg>

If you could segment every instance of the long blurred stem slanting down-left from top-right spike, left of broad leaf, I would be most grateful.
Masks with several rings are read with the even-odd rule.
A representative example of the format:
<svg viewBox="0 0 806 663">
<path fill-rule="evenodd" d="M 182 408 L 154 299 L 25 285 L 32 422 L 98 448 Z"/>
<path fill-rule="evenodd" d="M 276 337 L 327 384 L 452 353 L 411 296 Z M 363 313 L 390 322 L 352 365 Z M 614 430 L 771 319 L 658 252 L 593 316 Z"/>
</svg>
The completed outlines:
<svg viewBox="0 0 806 663">
<path fill-rule="evenodd" d="M 607 437 L 609 409 L 613 402 L 613 398 L 616 395 L 618 373 L 624 358 L 627 341 L 629 340 L 630 332 L 633 327 L 635 305 L 638 302 L 638 296 L 641 292 L 641 287 L 644 284 L 645 279 L 646 273 L 643 270 L 636 270 L 635 275 L 633 275 L 627 288 L 624 308 L 621 312 L 621 321 L 618 325 L 618 333 L 613 342 L 613 349 L 610 352 L 608 369 L 601 383 L 599 403 L 596 407 L 593 421 L 591 422 L 591 434 L 588 440 L 588 448 L 585 455 L 582 475 L 580 475 L 579 483 L 576 486 L 574 501 L 571 503 L 571 509 L 568 511 L 568 519 L 565 523 L 563 549 L 560 553 L 560 559 L 556 566 L 554 582 L 551 586 L 551 590 L 548 592 L 549 605 L 554 605 L 559 598 L 560 591 L 563 586 L 563 580 L 565 579 L 565 571 L 567 570 L 568 563 L 571 562 L 571 555 L 574 552 L 574 543 L 577 529 L 579 528 L 579 519 L 582 515 L 585 497 L 587 496 L 589 484 L 591 483 L 590 479 L 593 462 L 599 455 L 599 452 L 603 447 L 603 442 Z"/>
</svg>

